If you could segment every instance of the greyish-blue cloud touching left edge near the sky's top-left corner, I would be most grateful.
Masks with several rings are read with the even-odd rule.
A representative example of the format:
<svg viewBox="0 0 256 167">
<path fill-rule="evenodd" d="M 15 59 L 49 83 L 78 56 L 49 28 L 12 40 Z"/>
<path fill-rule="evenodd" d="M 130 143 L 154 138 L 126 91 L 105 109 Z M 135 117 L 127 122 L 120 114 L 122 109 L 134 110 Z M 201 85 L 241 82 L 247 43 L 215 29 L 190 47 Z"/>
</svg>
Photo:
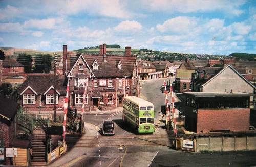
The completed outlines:
<svg viewBox="0 0 256 167">
<path fill-rule="evenodd" d="M 7 5 L 6 8 L 0 8 L 0 20 L 6 20 L 18 16 L 20 14 L 19 8 Z"/>
</svg>

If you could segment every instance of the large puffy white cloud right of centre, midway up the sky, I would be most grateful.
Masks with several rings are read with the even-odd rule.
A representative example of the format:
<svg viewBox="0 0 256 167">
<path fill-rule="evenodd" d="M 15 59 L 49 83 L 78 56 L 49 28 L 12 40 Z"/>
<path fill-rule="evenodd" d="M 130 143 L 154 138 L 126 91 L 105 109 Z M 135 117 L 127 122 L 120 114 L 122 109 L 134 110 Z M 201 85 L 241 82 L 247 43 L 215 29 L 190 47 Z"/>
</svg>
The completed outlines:
<svg viewBox="0 0 256 167">
<path fill-rule="evenodd" d="M 195 17 L 178 16 L 165 21 L 156 28 L 160 32 L 187 33 L 197 25 Z"/>
</svg>

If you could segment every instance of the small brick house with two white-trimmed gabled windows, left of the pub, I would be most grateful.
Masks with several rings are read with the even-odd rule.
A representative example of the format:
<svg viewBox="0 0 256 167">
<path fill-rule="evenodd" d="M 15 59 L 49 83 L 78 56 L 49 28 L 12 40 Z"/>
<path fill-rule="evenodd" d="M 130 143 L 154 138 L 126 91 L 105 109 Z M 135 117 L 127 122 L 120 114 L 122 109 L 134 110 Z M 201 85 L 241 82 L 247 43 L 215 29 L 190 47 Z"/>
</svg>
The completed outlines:
<svg viewBox="0 0 256 167">
<path fill-rule="evenodd" d="M 17 89 L 19 103 L 27 111 L 34 113 L 53 112 L 55 88 L 56 111 L 62 112 L 67 89 L 65 76 L 27 76 L 27 80 Z"/>
</svg>

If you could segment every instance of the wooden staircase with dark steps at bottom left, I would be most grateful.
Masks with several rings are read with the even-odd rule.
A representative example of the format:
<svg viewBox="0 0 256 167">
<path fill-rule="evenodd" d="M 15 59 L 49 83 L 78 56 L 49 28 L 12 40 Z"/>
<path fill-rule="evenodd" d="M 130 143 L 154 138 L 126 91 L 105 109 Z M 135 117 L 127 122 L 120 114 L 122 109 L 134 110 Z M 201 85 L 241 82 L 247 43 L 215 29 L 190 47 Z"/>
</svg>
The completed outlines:
<svg viewBox="0 0 256 167">
<path fill-rule="evenodd" d="M 31 165 L 32 166 L 42 166 L 47 165 L 46 163 L 46 142 L 47 135 L 42 131 L 33 131 L 31 138 Z"/>
</svg>

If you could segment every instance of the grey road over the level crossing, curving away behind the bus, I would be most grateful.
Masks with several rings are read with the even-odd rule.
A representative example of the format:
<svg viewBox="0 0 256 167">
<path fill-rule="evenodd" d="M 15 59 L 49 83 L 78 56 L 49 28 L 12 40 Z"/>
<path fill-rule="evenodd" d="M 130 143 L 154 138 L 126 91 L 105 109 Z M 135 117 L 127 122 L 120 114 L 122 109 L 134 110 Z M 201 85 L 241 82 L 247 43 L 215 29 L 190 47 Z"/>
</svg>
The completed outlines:
<svg viewBox="0 0 256 167">
<path fill-rule="evenodd" d="M 161 106 L 164 105 L 164 94 L 160 87 L 164 79 L 147 81 L 142 84 L 144 98 L 155 106 L 155 118 L 161 116 Z M 170 78 L 171 82 L 174 78 Z M 168 79 L 169 81 L 169 79 Z M 77 158 L 70 159 L 66 164 L 52 166 L 122 166 L 167 167 L 167 166 L 255 166 L 256 151 L 188 153 L 171 149 L 172 136 L 165 129 L 157 128 L 153 135 L 135 135 L 133 130 L 122 124 L 122 113 L 104 113 L 84 115 L 87 133 L 82 137 L 67 137 L 69 154 Z M 101 136 L 98 133 L 104 120 L 116 123 L 114 136 Z M 123 150 L 119 150 L 119 145 Z"/>
</svg>

